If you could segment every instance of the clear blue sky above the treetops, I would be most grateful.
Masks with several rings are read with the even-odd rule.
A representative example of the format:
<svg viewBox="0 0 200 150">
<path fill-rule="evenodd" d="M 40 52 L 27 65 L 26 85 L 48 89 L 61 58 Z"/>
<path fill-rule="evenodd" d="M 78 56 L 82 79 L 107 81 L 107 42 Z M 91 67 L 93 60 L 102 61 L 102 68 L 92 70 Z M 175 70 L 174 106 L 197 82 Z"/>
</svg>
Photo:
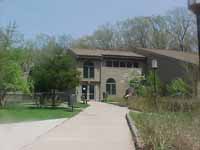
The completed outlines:
<svg viewBox="0 0 200 150">
<path fill-rule="evenodd" d="M 15 21 L 27 39 L 39 33 L 78 38 L 106 23 L 177 7 L 187 7 L 187 0 L 0 0 L 0 26 Z"/>
</svg>

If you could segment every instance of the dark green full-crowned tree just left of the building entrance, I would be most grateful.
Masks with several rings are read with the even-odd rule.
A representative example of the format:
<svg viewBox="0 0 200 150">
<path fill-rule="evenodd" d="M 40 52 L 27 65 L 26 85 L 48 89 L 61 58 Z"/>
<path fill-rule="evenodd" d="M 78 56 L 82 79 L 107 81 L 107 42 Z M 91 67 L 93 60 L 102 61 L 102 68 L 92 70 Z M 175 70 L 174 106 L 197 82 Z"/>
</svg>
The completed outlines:
<svg viewBox="0 0 200 150">
<path fill-rule="evenodd" d="M 55 41 L 40 52 L 31 71 L 35 92 L 49 92 L 52 106 L 55 106 L 56 90 L 74 89 L 79 84 L 80 73 L 76 70 L 75 60 Z"/>
</svg>

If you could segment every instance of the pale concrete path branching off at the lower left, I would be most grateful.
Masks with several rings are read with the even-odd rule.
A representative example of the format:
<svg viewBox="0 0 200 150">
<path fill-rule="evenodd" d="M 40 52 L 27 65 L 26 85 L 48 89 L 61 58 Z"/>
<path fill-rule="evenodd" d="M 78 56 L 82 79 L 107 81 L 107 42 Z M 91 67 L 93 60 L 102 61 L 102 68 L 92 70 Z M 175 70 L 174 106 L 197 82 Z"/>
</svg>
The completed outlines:
<svg viewBox="0 0 200 150">
<path fill-rule="evenodd" d="M 0 150 L 20 150 L 65 120 L 0 124 Z"/>
</svg>

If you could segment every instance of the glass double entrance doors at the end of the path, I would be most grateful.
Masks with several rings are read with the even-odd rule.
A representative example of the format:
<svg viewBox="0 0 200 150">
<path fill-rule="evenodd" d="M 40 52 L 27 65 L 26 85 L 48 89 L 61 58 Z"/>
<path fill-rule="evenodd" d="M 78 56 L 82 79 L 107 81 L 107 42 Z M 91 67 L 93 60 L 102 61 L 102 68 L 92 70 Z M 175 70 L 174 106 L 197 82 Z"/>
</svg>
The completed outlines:
<svg viewBox="0 0 200 150">
<path fill-rule="evenodd" d="M 82 95 L 87 100 L 95 100 L 95 85 L 82 85 Z"/>
</svg>

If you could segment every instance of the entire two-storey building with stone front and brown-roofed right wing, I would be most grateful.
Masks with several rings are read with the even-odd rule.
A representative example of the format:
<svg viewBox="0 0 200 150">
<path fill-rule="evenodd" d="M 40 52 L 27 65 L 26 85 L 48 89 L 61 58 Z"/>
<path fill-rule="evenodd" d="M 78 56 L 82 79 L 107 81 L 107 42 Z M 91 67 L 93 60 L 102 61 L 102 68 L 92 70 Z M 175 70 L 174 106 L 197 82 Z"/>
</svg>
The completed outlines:
<svg viewBox="0 0 200 150">
<path fill-rule="evenodd" d="M 78 99 L 102 100 L 103 94 L 123 97 L 134 75 L 146 75 L 152 59 L 157 59 L 158 76 L 168 84 L 177 78 L 190 78 L 197 95 L 198 55 L 174 50 L 135 48 L 127 50 L 71 49 L 81 72 L 81 85 L 77 87 Z M 193 66 L 188 70 L 187 66 Z"/>
</svg>

